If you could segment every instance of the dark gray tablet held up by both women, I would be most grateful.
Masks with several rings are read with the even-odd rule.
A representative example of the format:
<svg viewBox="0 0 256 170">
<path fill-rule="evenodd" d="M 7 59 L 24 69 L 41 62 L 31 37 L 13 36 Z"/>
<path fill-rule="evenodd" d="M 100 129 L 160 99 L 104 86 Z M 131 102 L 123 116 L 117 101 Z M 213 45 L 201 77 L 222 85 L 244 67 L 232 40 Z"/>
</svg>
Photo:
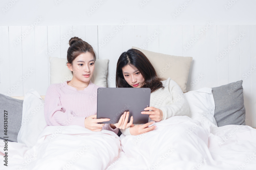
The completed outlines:
<svg viewBox="0 0 256 170">
<path fill-rule="evenodd" d="M 150 88 L 98 88 L 97 119 L 109 118 L 102 123 L 118 123 L 125 111 L 129 111 L 130 122 L 134 124 L 148 123 L 148 114 L 141 114 L 150 106 Z"/>
</svg>

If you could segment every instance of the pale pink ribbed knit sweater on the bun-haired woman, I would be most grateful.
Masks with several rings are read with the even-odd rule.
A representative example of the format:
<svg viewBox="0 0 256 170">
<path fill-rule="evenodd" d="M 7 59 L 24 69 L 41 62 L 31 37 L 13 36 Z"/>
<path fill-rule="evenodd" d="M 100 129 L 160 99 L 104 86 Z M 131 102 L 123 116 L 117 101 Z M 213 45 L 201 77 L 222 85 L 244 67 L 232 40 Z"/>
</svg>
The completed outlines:
<svg viewBox="0 0 256 170">
<path fill-rule="evenodd" d="M 45 95 L 45 120 L 50 126 L 79 125 L 84 126 L 84 119 L 97 114 L 97 89 L 101 86 L 91 81 L 84 90 L 77 90 L 69 86 L 66 81 L 51 84 Z M 102 129 L 118 133 L 119 129 L 112 129 L 105 124 Z"/>
</svg>

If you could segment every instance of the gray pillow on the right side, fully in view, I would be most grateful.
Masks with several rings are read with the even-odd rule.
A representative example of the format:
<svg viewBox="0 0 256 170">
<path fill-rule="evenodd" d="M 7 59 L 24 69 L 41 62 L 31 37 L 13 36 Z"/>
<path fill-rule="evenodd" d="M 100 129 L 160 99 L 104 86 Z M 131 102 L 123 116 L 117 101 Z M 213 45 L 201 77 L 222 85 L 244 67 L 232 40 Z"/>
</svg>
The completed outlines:
<svg viewBox="0 0 256 170">
<path fill-rule="evenodd" d="M 215 101 L 214 117 L 218 127 L 225 125 L 245 125 L 243 101 L 243 81 L 212 88 Z"/>
</svg>

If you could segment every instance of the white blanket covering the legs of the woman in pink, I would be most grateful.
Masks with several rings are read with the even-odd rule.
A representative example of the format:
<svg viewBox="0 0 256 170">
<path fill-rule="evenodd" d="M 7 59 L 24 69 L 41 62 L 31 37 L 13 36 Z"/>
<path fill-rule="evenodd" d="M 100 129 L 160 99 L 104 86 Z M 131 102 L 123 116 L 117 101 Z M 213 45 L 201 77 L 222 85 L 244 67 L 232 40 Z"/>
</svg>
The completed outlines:
<svg viewBox="0 0 256 170">
<path fill-rule="evenodd" d="M 0 144 L 1 160 L 4 142 Z M 109 130 L 80 126 L 48 126 L 36 145 L 8 142 L 8 167 L 0 169 L 105 169 L 122 151 L 120 138 Z"/>
</svg>

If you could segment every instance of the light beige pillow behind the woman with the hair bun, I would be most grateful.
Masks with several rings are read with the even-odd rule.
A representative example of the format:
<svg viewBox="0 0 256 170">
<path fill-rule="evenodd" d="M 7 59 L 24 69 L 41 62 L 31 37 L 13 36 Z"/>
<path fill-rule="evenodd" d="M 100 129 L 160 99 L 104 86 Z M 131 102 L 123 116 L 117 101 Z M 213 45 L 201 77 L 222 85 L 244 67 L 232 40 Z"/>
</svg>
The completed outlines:
<svg viewBox="0 0 256 170">
<path fill-rule="evenodd" d="M 50 84 L 63 83 L 71 80 L 73 75 L 66 66 L 67 59 L 49 57 L 50 62 Z M 96 59 L 93 78 L 91 81 L 98 85 L 107 87 L 106 75 L 108 71 L 109 59 Z"/>
</svg>

